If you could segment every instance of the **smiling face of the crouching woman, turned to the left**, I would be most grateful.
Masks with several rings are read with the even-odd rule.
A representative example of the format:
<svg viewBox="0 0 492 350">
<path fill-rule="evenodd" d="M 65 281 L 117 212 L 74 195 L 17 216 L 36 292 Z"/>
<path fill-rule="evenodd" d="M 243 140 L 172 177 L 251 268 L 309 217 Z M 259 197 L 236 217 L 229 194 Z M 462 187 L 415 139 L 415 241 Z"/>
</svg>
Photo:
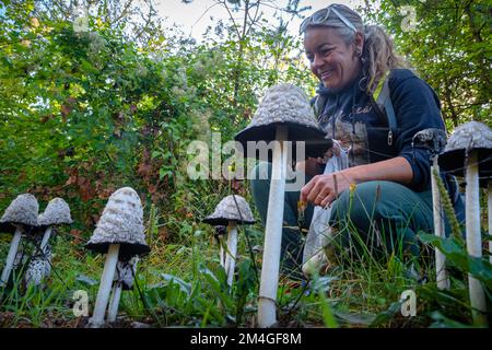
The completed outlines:
<svg viewBox="0 0 492 350">
<path fill-rule="evenodd" d="M 362 65 L 356 47 L 362 50 L 362 35 L 355 43 L 345 45 L 332 27 L 309 27 L 304 35 L 304 49 L 312 72 L 323 84 L 333 91 L 350 84 L 361 72 Z"/>
</svg>

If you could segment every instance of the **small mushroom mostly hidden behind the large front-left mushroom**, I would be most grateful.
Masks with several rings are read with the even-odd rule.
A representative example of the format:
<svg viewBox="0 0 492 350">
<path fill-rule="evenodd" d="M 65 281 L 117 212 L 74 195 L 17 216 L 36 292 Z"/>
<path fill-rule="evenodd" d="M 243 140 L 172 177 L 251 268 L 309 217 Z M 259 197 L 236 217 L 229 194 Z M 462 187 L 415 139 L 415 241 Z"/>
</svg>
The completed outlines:
<svg viewBox="0 0 492 350">
<path fill-rule="evenodd" d="M 119 300 L 121 290 L 128 291 L 133 288 L 134 273 L 137 272 L 137 262 L 139 257 L 134 256 L 129 261 L 118 261 L 116 273 L 113 281 L 112 300 L 107 310 L 107 320 L 115 322 L 118 315 Z"/>
</svg>

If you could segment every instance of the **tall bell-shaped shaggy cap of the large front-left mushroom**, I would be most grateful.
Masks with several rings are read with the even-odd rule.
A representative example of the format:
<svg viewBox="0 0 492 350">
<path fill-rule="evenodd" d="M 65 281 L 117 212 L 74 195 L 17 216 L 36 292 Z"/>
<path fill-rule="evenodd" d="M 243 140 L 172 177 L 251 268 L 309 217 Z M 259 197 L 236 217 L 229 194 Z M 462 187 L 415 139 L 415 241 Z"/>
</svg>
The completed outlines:
<svg viewBox="0 0 492 350">
<path fill-rule="evenodd" d="M 106 253 L 110 244 L 119 244 L 119 258 L 150 252 L 143 233 L 143 210 L 140 198 L 130 187 L 116 190 L 108 199 L 96 229 L 87 242 L 87 249 Z"/>
</svg>

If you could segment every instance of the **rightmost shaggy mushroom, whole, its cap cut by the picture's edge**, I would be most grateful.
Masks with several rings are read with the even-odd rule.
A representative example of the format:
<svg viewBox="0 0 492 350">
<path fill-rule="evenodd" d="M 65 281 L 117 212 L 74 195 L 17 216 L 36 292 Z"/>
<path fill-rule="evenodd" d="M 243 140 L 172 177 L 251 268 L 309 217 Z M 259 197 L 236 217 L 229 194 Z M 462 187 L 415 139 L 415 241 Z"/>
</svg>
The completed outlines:
<svg viewBox="0 0 492 350">
<path fill-rule="evenodd" d="M 468 255 L 482 256 L 480 232 L 480 186 L 492 177 L 492 130 L 482 122 L 469 121 L 457 127 L 440 155 L 443 170 L 466 180 L 466 231 Z M 487 325 L 485 294 L 479 280 L 468 275 L 473 320 Z"/>
</svg>

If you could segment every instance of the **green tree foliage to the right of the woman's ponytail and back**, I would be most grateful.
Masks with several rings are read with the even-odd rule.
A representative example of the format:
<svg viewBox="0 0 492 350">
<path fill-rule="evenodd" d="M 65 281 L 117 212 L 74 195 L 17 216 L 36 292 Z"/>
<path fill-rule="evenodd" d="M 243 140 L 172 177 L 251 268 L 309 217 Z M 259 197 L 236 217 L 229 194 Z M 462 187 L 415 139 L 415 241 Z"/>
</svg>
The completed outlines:
<svg viewBox="0 0 492 350">
<path fill-rule="evenodd" d="M 492 125 L 490 2 L 384 0 L 379 4 L 376 11 L 366 2 L 365 14 L 386 26 L 398 50 L 436 90 L 448 128 L 470 119 Z"/>
</svg>

